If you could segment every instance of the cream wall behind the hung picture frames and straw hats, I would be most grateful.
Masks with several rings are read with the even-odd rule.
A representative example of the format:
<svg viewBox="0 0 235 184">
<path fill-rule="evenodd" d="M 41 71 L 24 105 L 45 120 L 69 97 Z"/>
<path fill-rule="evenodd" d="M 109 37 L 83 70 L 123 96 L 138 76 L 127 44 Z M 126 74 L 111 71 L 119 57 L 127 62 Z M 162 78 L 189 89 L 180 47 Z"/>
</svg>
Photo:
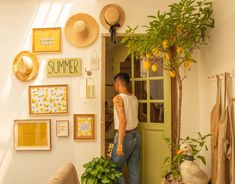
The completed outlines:
<svg viewBox="0 0 235 184">
<path fill-rule="evenodd" d="M 135 26 L 146 24 L 147 15 L 154 14 L 158 9 L 165 9 L 171 0 L 0 0 L 0 183 L 1 184 L 42 184 L 64 162 L 71 161 L 76 167 L 79 176 L 83 172 L 82 164 L 94 156 L 99 156 L 100 149 L 100 119 L 101 119 L 101 71 L 93 73 L 96 80 L 96 99 L 86 100 L 79 94 L 80 78 L 48 78 L 45 75 L 45 59 L 54 57 L 81 57 L 83 68 L 88 66 L 92 51 L 95 49 L 101 57 L 101 34 L 97 41 L 90 47 L 78 49 L 71 46 L 63 35 L 63 52 L 61 54 L 38 54 L 40 60 L 40 72 L 35 81 L 21 82 L 12 73 L 12 62 L 21 50 L 31 50 L 32 27 L 63 27 L 67 18 L 78 12 L 86 12 L 92 15 L 99 23 L 101 8 L 110 3 L 120 4 L 125 13 L 126 21 L 119 32 L 124 32 L 126 25 Z M 107 32 L 100 25 L 100 33 Z M 142 28 L 141 28 L 142 29 Z M 140 30 L 141 30 L 140 29 Z M 189 93 L 189 89 L 196 89 L 190 80 L 195 78 L 197 69 L 185 85 L 184 105 L 188 106 L 188 99 L 193 107 L 197 105 L 196 92 Z M 70 89 L 70 114 L 68 116 L 43 116 L 52 119 L 52 150 L 51 151 L 22 151 L 13 149 L 13 120 L 21 118 L 39 118 L 28 115 L 29 85 L 40 84 L 69 84 Z M 83 90 L 83 89 L 82 89 Z M 193 90 L 195 91 L 195 90 Z M 195 97 L 195 98 L 194 98 Z M 195 112 L 184 108 L 187 115 L 184 116 L 187 126 L 192 127 L 188 133 L 194 132 L 197 120 Z M 75 142 L 73 140 L 72 125 L 74 113 L 96 114 L 96 139 L 89 142 Z M 40 117 L 41 118 L 41 117 Z M 70 120 L 69 138 L 57 138 L 55 135 L 55 120 Z M 191 126 L 190 126 L 191 125 Z M 184 131 L 188 128 L 184 128 Z"/>
</svg>

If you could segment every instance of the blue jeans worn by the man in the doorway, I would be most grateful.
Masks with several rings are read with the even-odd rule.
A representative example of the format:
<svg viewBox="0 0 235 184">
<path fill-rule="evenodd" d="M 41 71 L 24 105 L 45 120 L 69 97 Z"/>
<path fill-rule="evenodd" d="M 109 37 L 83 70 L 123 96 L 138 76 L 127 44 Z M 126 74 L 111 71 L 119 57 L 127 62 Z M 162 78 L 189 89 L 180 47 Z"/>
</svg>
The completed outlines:
<svg viewBox="0 0 235 184">
<path fill-rule="evenodd" d="M 130 184 L 140 183 L 140 134 L 137 130 L 126 132 L 123 139 L 123 152 L 124 156 L 117 156 L 117 143 L 118 143 L 118 133 L 114 137 L 114 145 L 111 160 L 117 165 L 117 170 L 122 171 L 125 163 L 128 168 L 128 175 Z M 125 184 L 125 179 L 123 176 L 118 181 L 118 184 Z"/>
</svg>

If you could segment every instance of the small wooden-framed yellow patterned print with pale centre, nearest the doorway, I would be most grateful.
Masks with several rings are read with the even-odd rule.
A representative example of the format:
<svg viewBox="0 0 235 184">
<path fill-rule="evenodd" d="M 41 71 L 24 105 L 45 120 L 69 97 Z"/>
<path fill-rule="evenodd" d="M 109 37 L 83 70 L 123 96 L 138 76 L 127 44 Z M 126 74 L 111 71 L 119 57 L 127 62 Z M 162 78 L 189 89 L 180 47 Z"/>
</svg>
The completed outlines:
<svg viewBox="0 0 235 184">
<path fill-rule="evenodd" d="M 94 139 L 94 114 L 74 114 L 74 139 Z"/>
</svg>

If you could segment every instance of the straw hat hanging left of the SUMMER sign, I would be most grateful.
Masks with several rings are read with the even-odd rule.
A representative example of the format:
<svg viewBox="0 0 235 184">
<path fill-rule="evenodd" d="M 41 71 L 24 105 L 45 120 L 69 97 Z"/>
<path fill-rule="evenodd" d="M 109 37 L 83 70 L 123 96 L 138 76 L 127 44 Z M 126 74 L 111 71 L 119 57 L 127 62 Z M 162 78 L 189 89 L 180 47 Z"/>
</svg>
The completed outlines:
<svg viewBox="0 0 235 184">
<path fill-rule="evenodd" d="M 38 75 L 39 62 L 36 55 L 29 51 L 18 53 L 14 59 L 13 72 L 21 81 L 31 81 Z"/>
</svg>

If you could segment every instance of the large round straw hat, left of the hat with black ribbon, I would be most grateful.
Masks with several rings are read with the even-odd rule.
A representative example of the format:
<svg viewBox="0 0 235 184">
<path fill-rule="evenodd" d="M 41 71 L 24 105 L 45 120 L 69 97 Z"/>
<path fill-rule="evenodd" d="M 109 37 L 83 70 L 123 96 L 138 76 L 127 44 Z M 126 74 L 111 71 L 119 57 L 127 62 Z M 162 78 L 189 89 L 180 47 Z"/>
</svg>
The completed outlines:
<svg viewBox="0 0 235 184">
<path fill-rule="evenodd" d="M 67 20 L 64 32 L 66 39 L 72 45 L 87 47 L 95 42 L 99 27 L 92 16 L 86 13 L 78 13 Z"/>
</svg>

